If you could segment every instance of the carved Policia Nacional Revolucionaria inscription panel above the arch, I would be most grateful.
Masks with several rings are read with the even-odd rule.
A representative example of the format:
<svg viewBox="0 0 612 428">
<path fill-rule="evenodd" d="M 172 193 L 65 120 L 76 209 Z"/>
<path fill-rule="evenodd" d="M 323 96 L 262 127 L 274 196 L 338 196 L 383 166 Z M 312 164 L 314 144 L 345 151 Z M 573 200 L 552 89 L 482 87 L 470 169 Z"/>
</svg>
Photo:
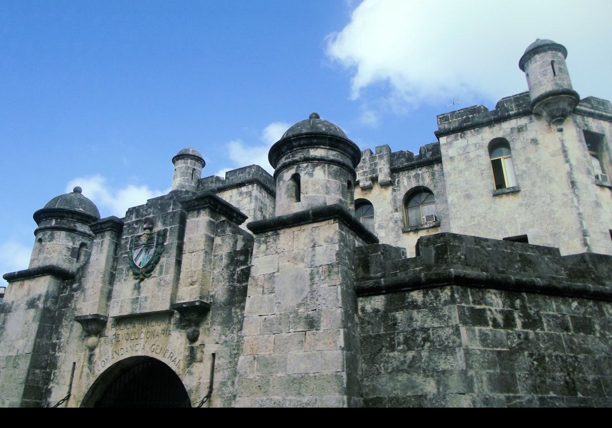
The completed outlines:
<svg viewBox="0 0 612 428">
<path fill-rule="evenodd" d="M 115 320 L 109 334 L 113 349 L 95 364 L 95 371 L 101 372 L 115 360 L 132 355 L 150 355 L 180 369 L 179 353 L 163 344 L 171 338 L 172 326 L 171 315 Z"/>
</svg>

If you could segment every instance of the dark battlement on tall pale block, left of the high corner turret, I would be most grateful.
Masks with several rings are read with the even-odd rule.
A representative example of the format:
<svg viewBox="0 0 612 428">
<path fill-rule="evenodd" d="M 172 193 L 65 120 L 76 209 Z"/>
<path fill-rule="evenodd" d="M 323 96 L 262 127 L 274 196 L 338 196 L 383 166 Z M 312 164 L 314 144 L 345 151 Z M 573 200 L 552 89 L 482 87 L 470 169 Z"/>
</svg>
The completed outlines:
<svg viewBox="0 0 612 428">
<path fill-rule="evenodd" d="M 435 135 L 440 138 L 513 119 L 514 117 L 527 116 L 531 114 L 530 102 L 529 92 L 522 92 L 502 98 L 495 105 L 495 109 L 491 111 L 485 106 L 476 105 L 450 113 L 438 114 L 438 131 L 435 131 Z"/>
</svg>

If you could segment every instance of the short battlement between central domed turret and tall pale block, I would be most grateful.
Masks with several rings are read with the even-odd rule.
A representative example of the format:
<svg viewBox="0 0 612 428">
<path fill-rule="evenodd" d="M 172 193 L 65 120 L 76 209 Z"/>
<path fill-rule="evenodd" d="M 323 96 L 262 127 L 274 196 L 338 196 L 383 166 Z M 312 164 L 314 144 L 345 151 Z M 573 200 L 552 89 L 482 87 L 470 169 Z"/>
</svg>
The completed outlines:
<svg viewBox="0 0 612 428">
<path fill-rule="evenodd" d="M 378 180 L 381 186 L 389 186 L 392 184 L 391 172 L 418 168 L 441 161 L 439 142 L 421 146 L 418 155 L 410 150 L 391 152 L 391 148 L 384 144 L 376 146 L 375 152 L 370 149 L 361 152 L 361 161 L 356 169 L 357 182 L 362 189 L 371 188 L 372 180 Z"/>
</svg>

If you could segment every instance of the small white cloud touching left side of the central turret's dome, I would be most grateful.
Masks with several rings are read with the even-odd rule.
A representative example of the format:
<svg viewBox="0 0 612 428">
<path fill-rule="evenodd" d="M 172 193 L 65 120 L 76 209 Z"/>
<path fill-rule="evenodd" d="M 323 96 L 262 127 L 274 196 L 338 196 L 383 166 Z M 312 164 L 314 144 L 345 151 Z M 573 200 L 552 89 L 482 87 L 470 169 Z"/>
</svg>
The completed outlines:
<svg viewBox="0 0 612 428">
<path fill-rule="evenodd" d="M 270 165 L 267 155 L 272 144 L 277 142 L 289 128 L 289 124 L 285 122 L 272 122 L 267 125 L 261 133 L 261 141 L 265 144 L 248 145 L 242 142 L 241 139 L 235 139 L 228 143 L 228 158 L 233 163 L 233 168 L 223 168 L 215 175 L 225 177 L 225 172 L 231 169 L 241 168 L 248 165 L 259 165 L 267 172 L 274 172 L 274 168 Z"/>
</svg>

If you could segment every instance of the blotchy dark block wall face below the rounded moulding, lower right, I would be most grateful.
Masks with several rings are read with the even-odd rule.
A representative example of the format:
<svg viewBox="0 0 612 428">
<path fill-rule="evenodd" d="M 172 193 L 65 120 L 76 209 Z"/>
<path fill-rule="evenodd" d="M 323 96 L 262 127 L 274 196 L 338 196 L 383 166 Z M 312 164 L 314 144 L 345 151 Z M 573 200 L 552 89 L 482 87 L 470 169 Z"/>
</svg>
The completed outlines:
<svg viewBox="0 0 612 428">
<path fill-rule="evenodd" d="M 359 300 L 366 407 L 610 407 L 612 305 L 450 286 Z"/>
</svg>

